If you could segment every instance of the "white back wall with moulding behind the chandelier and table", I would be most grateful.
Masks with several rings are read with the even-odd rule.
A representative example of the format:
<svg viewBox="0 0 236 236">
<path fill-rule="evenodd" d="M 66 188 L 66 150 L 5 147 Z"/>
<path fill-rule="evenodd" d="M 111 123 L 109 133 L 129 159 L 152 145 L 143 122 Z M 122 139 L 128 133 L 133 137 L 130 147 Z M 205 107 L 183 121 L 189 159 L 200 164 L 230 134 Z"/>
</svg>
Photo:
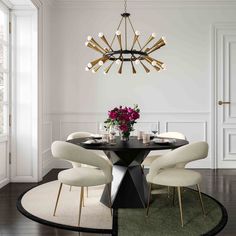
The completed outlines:
<svg viewBox="0 0 236 236">
<path fill-rule="evenodd" d="M 52 164 L 52 140 L 65 139 L 75 130 L 97 131 L 97 123 L 117 105 L 139 104 L 141 123 L 159 122 L 160 131 L 184 132 L 190 141 L 206 140 L 211 150 L 211 28 L 218 22 L 236 21 L 236 1 L 132 1 L 128 11 L 145 42 L 150 33 L 165 36 L 167 46 L 155 57 L 167 70 L 150 75 L 131 66 L 105 76 L 85 72 L 99 57 L 84 46 L 87 35 L 110 40 L 123 11 L 122 1 L 54 1 L 47 20 L 44 73 L 45 173 Z M 49 16 L 46 16 L 49 17 Z M 50 28 L 50 30 L 49 30 Z M 50 45 L 50 47 L 49 47 Z M 126 70 L 127 68 L 127 70 Z M 142 125 L 142 124 L 141 124 Z M 192 167 L 212 167 L 206 160 Z M 47 161 L 46 161 L 47 160 Z"/>
</svg>

